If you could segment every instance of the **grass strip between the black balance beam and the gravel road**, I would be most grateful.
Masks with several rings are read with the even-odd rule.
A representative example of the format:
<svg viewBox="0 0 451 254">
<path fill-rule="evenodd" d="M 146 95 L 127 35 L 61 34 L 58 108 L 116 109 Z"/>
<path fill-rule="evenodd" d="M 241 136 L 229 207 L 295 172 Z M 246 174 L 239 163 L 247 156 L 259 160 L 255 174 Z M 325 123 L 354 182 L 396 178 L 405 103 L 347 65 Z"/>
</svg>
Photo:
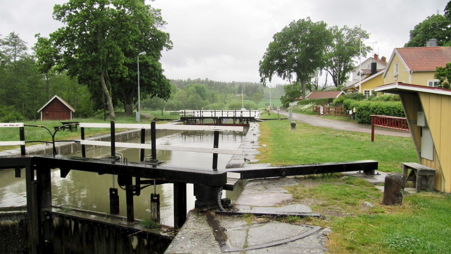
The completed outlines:
<svg viewBox="0 0 451 254">
<path fill-rule="evenodd" d="M 271 114 L 272 116 L 272 114 Z M 297 122 L 291 131 L 288 120 L 267 121 L 260 125 L 262 136 L 257 155 L 261 163 L 290 165 L 333 161 L 377 160 L 379 170 L 401 172 L 401 162 L 418 162 L 411 137 L 371 135 Z"/>
</svg>

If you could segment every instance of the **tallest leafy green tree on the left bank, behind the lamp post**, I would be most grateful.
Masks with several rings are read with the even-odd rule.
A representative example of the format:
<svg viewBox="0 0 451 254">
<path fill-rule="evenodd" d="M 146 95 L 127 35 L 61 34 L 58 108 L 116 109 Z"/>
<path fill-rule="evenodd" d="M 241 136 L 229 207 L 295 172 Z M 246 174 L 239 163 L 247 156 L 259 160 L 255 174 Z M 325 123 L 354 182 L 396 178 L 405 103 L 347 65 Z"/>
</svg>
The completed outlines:
<svg viewBox="0 0 451 254">
<path fill-rule="evenodd" d="M 52 47 L 58 52 L 54 56 L 56 66 L 70 76 L 78 76 L 95 98 L 105 94 L 111 119 L 115 118 L 114 100 L 123 101 L 127 113 L 133 109 L 133 98 L 138 94 L 134 87 L 139 52 L 148 54 L 141 58 L 143 91 L 169 98 L 169 80 L 158 61 L 161 50 L 170 49 L 172 42 L 168 33 L 159 30 L 165 24 L 159 10 L 143 0 L 69 0 L 55 5 L 53 17 L 64 23 L 50 34 Z"/>
</svg>

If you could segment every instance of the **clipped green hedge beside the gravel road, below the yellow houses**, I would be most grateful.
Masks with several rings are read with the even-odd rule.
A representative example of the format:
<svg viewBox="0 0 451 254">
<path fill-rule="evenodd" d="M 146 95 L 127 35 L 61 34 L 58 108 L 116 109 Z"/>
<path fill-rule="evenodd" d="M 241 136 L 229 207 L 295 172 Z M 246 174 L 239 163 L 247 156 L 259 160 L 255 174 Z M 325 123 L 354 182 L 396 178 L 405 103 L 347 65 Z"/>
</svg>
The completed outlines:
<svg viewBox="0 0 451 254">
<path fill-rule="evenodd" d="M 382 115 L 405 118 L 404 109 L 402 103 L 399 101 L 357 101 L 353 99 L 345 99 L 343 101 L 343 108 L 345 110 L 355 111 L 355 120 L 359 123 L 371 124 L 370 115 Z"/>
</svg>

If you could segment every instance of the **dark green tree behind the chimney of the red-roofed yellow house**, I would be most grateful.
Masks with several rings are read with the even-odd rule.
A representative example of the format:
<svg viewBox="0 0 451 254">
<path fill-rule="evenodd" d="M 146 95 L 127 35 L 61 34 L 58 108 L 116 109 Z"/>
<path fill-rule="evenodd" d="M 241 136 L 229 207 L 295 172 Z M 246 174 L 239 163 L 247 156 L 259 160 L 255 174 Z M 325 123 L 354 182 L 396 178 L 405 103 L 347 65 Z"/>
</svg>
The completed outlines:
<svg viewBox="0 0 451 254">
<path fill-rule="evenodd" d="M 446 5 L 448 6 L 450 3 Z M 445 9 L 445 15 L 450 16 L 449 10 Z M 404 47 L 425 47 L 429 39 L 437 39 L 438 46 L 451 46 L 451 21 L 443 15 L 433 14 L 420 22 L 410 30 L 410 40 L 404 44 Z"/>
</svg>

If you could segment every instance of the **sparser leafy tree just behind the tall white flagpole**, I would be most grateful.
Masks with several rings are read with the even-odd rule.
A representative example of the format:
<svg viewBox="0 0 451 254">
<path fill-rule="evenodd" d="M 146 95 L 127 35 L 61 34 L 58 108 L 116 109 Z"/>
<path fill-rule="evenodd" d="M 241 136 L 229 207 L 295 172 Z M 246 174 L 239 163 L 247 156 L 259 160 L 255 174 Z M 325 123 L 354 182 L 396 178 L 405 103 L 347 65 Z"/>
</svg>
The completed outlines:
<svg viewBox="0 0 451 254">
<path fill-rule="evenodd" d="M 369 38 L 369 34 L 357 26 L 333 26 L 330 31 L 333 41 L 327 47 L 326 71 L 332 76 L 335 87 L 338 87 L 348 80 L 348 73 L 355 67 L 353 58 L 360 55 L 359 38 L 364 41 Z M 366 57 L 368 52 L 371 52 L 371 47 L 362 43 L 362 56 Z"/>
</svg>

